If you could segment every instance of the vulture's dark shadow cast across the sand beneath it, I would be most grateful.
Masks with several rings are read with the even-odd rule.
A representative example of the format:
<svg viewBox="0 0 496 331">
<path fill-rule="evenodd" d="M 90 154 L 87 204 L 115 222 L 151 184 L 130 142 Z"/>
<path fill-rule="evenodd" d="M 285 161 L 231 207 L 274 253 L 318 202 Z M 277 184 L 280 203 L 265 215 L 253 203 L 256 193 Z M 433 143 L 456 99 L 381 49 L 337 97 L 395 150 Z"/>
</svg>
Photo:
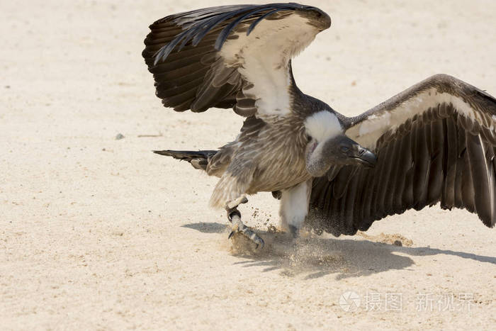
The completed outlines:
<svg viewBox="0 0 496 331">
<path fill-rule="evenodd" d="M 183 225 L 204 233 L 222 233 L 226 226 L 220 223 L 191 223 Z M 408 269 L 415 264 L 409 257 L 448 254 L 463 259 L 496 264 L 496 257 L 456 252 L 431 247 L 400 247 L 371 240 L 336 239 L 334 237 L 300 237 L 293 240 L 283 232 L 257 230 L 264 238 L 265 247 L 255 250 L 252 242 L 235 235 L 232 254 L 244 258 L 236 264 L 244 267 L 265 267 L 264 271 L 281 271 L 283 276 L 306 274 L 305 279 L 315 279 L 327 274 L 337 274 L 337 279 L 367 276 L 388 270 Z M 226 238 L 227 240 L 227 238 Z"/>
</svg>

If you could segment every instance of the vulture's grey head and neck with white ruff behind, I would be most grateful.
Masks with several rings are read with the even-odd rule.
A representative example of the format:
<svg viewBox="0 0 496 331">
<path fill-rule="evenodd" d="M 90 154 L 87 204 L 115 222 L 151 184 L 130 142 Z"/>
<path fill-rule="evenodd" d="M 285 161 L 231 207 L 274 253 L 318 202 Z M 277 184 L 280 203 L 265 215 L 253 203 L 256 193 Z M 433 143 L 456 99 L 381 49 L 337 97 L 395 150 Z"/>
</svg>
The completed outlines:
<svg viewBox="0 0 496 331">
<path fill-rule="evenodd" d="M 323 176 L 334 164 L 376 165 L 376 155 L 346 137 L 342 124 L 331 111 L 308 116 L 305 130 L 309 140 L 305 153 L 307 170 L 312 176 Z"/>
</svg>

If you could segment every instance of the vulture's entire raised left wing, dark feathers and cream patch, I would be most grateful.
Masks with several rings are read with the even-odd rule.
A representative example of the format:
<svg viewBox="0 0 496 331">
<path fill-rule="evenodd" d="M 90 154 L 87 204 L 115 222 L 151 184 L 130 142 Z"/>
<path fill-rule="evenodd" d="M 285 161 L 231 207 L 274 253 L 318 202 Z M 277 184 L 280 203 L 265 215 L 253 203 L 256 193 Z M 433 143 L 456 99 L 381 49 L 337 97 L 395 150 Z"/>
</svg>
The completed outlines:
<svg viewBox="0 0 496 331">
<path fill-rule="evenodd" d="M 300 4 L 199 9 L 153 23 L 142 55 L 157 96 L 175 111 L 283 116 L 291 105 L 291 57 L 330 23 L 320 9 Z"/>
</svg>

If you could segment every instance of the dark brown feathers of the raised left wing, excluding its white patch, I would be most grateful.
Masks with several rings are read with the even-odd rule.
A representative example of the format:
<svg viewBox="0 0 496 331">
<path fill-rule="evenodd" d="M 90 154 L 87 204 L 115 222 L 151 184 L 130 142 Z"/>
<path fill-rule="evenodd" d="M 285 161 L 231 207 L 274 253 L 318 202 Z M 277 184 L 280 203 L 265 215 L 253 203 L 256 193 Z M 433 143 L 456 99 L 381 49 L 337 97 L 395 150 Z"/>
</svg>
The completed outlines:
<svg viewBox="0 0 496 331">
<path fill-rule="evenodd" d="M 227 67 L 218 51 L 227 40 L 239 38 L 239 33 L 249 35 L 262 20 L 283 19 L 296 12 L 320 30 L 330 25 L 329 16 L 320 9 L 294 3 L 219 6 L 156 21 L 142 56 L 154 75 L 157 96 L 175 111 L 234 107 L 239 115 L 254 115 L 257 98 L 243 93 L 251 83 L 235 67 Z"/>
</svg>

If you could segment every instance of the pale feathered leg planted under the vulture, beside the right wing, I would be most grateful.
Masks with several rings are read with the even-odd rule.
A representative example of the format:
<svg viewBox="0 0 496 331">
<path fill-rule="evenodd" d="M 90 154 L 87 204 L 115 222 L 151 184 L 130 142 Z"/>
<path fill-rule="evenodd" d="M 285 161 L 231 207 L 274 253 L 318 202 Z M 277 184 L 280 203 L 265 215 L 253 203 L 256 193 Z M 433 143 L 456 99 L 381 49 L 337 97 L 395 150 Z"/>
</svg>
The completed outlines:
<svg viewBox="0 0 496 331">
<path fill-rule="evenodd" d="M 281 209 L 279 210 L 281 225 L 289 230 L 293 237 L 298 237 L 300 228 L 305 222 L 311 192 L 312 179 L 283 190 L 281 193 Z"/>
</svg>

